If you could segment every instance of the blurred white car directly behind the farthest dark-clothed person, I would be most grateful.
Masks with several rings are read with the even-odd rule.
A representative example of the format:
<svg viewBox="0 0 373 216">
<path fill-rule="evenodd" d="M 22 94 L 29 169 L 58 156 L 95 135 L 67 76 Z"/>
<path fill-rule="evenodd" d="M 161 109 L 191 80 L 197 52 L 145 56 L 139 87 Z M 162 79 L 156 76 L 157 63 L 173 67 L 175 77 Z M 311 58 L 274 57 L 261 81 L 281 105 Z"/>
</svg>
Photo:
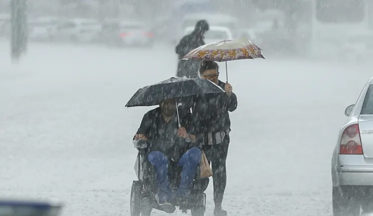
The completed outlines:
<svg viewBox="0 0 373 216">
<path fill-rule="evenodd" d="M 190 34 L 194 28 L 194 26 L 186 27 L 184 33 Z M 209 30 L 204 34 L 204 42 L 206 44 L 228 39 L 233 39 L 233 34 L 229 28 L 224 26 L 209 26 Z"/>
</svg>

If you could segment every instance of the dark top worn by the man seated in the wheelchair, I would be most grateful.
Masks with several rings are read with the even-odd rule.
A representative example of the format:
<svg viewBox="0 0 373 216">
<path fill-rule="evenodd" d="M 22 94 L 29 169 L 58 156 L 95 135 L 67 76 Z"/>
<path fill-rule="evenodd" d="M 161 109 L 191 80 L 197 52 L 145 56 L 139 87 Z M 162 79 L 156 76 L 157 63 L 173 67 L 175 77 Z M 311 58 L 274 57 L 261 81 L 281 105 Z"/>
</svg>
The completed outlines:
<svg viewBox="0 0 373 216">
<path fill-rule="evenodd" d="M 179 110 L 180 115 L 180 124 L 182 127 L 185 127 L 188 134 L 193 134 L 194 126 L 193 126 L 193 119 L 191 112 L 186 109 Z M 162 142 L 158 138 L 161 137 L 159 134 L 159 126 L 163 122 L 162 111 L 161 108 L 155 108 L 147 112 L 143 120 L 141 121 L 140 127 L 137 130 L 136 134 L 144 134 L 148 137 L 148 150 L 151 151 L 159 151 L 162 152 L 166 157 L 170 160 L 179 161 L 181 156 L 188 149 L 193 147 L 191 143 L 187 143 L 184 138 L 177 138 L 175 143 L 170 142 Z M 178 129 L 178 122 L 175 121 L 174 123 L 175 129 Z"/>
</svg>

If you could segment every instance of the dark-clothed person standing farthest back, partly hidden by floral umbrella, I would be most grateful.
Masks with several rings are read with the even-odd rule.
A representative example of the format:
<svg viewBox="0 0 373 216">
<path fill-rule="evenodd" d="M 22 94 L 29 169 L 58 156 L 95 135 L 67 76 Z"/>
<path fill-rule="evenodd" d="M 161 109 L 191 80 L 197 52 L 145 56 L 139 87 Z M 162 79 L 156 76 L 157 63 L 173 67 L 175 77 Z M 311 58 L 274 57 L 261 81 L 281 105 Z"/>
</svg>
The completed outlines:
<svg viewBox="0 0 373 216">
<path fill-rule="evenodd" d="M 191 50 L 204 45 L 203 35 L 208 31 L 209 26 L 206 20 L 199 20 L 195 24 L 195 29 L 190 34 L 184 36 L 179 44 L 176 46 L 176 54 L 179 59 L 183 58 Z M 199 61 L 179 61 L 178 63 L 178 77 L 197 78 Z"/>
</svg>

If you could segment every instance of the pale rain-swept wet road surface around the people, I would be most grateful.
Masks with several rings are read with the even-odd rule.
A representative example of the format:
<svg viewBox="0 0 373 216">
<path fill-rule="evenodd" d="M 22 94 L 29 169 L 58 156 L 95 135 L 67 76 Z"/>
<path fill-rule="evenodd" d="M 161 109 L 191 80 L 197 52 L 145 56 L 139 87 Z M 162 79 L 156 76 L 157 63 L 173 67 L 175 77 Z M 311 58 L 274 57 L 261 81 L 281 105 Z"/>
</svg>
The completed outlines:
<svg viewBox="0 0 373 216">
<path fill-rule="evenodd" d="M 0 194 L 61 199 L 65 216 L 129 215 L 131 139 L 149 108 L 124 105 L 138 88 L 174 75 L 172 47 L 31 44 L 19 65 L 7 55 L 0 50 Z M 370 68 L 270 57 L 229 62 L 239 103 L 223 203 L 229 216 L 332 215 L 332 150 Z"/>
</svg>

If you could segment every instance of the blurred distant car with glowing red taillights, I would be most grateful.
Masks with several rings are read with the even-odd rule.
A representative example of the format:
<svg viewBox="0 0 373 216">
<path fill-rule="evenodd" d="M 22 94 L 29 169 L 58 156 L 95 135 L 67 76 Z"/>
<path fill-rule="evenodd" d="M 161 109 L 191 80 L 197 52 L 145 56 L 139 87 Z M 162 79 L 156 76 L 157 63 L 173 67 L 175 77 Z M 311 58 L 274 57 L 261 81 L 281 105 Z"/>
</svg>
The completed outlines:
<svg viewBox="0 0 373 216">
<path fill-rule="evenodd" d="M 103 41 L 109 46 L 153 47 L 154 33 L 144 22 L 109 21 L 103 24 Z"/>
</svg>

